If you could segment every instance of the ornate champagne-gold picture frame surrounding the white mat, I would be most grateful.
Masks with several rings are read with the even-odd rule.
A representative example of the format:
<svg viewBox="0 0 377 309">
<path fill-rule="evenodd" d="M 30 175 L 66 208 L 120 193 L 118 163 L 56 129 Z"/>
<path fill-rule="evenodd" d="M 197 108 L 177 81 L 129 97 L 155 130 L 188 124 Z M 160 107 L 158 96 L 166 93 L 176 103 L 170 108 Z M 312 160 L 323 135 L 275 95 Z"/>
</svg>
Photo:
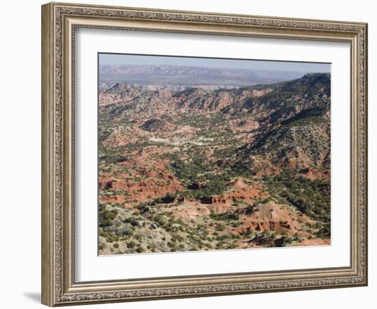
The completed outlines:
<svg viewBox="0 0 377 309">
<path fill-rule="evenodd" d="M 77 27 L 341 41 L 351 45 L 351 264 L 265 273 L 75 282 L 73 44 Z M 203 297 L 367 285 L 367 24 L 343 21 L 42 5 L 42 304 Z"/>
</svg>

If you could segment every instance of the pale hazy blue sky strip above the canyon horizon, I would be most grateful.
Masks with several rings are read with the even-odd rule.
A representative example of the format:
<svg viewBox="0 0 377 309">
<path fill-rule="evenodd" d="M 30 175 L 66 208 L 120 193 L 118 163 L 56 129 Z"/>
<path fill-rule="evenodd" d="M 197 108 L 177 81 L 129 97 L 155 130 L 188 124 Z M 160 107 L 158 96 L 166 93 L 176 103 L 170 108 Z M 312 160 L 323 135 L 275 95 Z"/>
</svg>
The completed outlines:
<svg viewBox="0 0 377 309">
<path fill-rule="evenodd" d="M 180 65 L 276 71 L 330 72 L 330 63 L 289 62 L 271 60 L 238 60 L 176 56 L 140 56 L 130 54 L 99 54 L 99 65 Z"/>
</svg>

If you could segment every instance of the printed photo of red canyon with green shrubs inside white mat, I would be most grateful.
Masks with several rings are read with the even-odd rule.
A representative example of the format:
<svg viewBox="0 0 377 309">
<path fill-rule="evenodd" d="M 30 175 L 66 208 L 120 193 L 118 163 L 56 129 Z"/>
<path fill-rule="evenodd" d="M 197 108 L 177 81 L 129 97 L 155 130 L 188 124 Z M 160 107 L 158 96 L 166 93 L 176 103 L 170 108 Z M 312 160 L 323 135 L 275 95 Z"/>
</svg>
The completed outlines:
<svg viewBox="0 0 377 309">
<path fill-rule="evenodd" d="M 107 56 L 99 255 L 330 244 L 330 69 Z"/>
</svg>

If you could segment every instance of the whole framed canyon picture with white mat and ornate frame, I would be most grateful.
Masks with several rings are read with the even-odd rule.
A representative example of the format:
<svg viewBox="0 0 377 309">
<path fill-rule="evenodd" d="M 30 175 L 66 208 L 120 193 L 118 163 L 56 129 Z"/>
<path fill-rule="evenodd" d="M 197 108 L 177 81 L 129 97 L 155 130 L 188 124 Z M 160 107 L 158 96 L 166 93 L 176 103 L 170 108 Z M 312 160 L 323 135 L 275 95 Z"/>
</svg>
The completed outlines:
<svg viewBox="0 0 377 309">
<path fill-rule="evenodd" d="M 365 285 L 366 23 L 42 5 L 42 304 Z"/>
</svg>

